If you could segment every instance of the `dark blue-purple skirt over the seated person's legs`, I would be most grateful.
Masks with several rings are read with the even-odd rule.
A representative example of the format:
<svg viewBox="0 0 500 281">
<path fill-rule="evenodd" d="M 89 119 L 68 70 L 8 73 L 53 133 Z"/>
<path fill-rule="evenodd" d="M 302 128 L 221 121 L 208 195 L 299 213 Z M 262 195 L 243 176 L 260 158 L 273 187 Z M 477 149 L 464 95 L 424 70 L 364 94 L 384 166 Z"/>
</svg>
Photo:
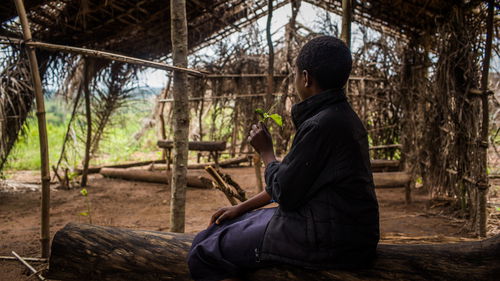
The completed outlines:
<svg viewBox="0 0 500 281">
<path fill-rule="evenodd" d="M 258 251 L 275 212 L 276 208 L 259 209 L 198 233 L 188 255 L 191 278 L 235 278 L 245 270 L 265 266 Z"/>
</svg>

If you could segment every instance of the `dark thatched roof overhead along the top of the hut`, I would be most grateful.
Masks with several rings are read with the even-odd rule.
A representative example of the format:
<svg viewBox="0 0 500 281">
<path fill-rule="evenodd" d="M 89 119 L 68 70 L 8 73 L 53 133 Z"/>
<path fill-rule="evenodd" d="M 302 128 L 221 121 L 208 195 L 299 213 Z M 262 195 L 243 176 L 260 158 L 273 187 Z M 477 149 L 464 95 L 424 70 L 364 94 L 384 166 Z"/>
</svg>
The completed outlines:
<svg viewBox="0 0 500 281">
<path fill-rule="evenodd" d="M 340 0 L 305 0 L 341 13 Z M 454 3 L 438 0 L 354 1 L 354 20 L 408 34 L 432 30 Z M 478 2 L 470 1 L 471 2 Z M 288 3 L 275 0 L 275 8 Z M 264 16 L 266 0 L 187 0 L 189 47 L 200 48 Z M 25 0 L 35 40 L 105 49 L 141 58 L 170 52 L 170 5 L 165 0 Z M 0 2 L 0 23 L 16 16 Z M 0 35 L 12 35 L 5 29 Z"/>
</svg>

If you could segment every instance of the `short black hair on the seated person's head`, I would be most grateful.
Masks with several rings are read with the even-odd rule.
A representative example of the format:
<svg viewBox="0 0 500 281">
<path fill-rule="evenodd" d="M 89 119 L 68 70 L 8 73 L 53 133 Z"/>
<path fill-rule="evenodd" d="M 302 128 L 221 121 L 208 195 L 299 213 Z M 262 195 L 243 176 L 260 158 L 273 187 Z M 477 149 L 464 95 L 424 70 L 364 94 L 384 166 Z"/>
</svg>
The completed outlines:
<svg viewBox="0 0 500 281">
<path fill-rule="evenodd" d="M 340 89 L 349 79 L 352 57 L 342 40 L 320 36 L 302 47 L 295 63 L 299 71 L 307 70 L 321 89 Z"/>
</svg>

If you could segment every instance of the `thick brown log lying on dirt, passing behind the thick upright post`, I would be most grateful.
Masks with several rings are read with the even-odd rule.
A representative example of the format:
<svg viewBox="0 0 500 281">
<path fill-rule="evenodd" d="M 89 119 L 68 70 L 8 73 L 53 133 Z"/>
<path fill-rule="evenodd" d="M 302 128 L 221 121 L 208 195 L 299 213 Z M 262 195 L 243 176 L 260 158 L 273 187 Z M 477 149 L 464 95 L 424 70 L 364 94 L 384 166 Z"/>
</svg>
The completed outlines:
<svg viewBox="0 0 500 281">
<path fill-rule="evenodd" d="M 127 169 L 114 169 L 114 168 L 102 168 L 101 175 L 108 178 L 163 183 L 163 184 L 168 184 L 172 176 L 172 174 L 169 172 L 159 173 L 146 170 L 127 170 Z M 212 186 L 206 184 L 206 181 L 210 181 L 210 179 L 202 176 L 187 175 L 187 186 L 189 187 L 212 188 Z"/>
</svg>

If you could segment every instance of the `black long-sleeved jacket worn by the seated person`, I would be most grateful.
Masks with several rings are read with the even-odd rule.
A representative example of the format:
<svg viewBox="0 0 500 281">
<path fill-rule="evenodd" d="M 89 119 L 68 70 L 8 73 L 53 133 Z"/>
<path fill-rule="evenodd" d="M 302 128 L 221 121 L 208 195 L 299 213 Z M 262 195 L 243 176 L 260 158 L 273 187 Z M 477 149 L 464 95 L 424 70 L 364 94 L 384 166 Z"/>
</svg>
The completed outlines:
<svg viewBox="0 0 500 281">
<path fill-rule="evenodd" d="M 334 90 L 294 105 L 292 118 L 290 152 L 266 167 L 266 191 L 279 208 L 259 258 L 311 268 L 368 263 L 379 215 L 363 124 Z"/>
</svg>

